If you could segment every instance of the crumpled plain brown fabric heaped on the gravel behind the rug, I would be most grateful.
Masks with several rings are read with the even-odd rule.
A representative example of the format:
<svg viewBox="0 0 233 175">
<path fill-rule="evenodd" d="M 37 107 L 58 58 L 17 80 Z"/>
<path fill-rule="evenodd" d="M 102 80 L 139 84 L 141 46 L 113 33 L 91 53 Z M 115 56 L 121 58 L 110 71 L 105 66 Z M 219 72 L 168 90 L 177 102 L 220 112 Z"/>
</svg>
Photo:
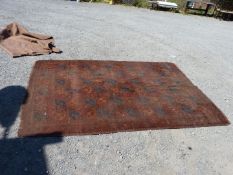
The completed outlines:
<svg viewBox="0 0 233 175">
<path fill-rule="evenodd" d="M 0 46 L 12 57 L 61 53 L 52 36 L 31 33 L 17 23 L 0 31 Z"/>
</svg>

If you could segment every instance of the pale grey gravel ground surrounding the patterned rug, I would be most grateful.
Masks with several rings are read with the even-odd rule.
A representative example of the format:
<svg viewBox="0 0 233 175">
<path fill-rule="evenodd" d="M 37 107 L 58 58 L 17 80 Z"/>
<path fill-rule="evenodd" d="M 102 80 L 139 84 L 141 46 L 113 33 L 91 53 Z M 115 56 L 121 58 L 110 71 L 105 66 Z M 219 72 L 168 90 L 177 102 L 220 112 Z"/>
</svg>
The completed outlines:
<svg viewBox="0 0 233 175">
<path fill-rule="evenodd" d="M 27 87 L 36 60 L 169 61 L 233 121 L 231 22 L 117 5 L 0 0 L 0 26 L 13 21 L 30 31 L 53 35 L 63 53 L 12 59 L 0 51 L 0 90 Z M 11 106 L 11 100 L 1 98 Z M 20 140 L 16 114 L 7 139 L 0 141 L 0 151 L 10 152 L 9 159 L 19 154 L 22 162 L 30 161 L 0 163 L 3 174 L 12 169 L 15 174 L 64 175 L 231 175 L 233 171 L 232 125 Z M 3 138 L 7 124 L 0 117 Z"/>
</svg>

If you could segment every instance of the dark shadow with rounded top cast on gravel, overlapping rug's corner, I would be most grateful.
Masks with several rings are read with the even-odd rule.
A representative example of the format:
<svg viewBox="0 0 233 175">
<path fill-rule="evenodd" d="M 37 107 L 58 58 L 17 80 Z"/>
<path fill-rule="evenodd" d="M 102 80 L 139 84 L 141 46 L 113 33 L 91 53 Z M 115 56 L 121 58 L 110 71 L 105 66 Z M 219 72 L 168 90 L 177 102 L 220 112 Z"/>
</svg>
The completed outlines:
<svg viewBox="0 0 233 175">
<path fill-rule="evenodd" d="M 21 86 L 8 86 L 0 90 L 0 125 L 4 128 L 0 140 L 1 175 L 48 174 L 44 147 L 62 141 L 62 137 L 7 138 L 27 96 L 27 90 Z"/>
</svg>

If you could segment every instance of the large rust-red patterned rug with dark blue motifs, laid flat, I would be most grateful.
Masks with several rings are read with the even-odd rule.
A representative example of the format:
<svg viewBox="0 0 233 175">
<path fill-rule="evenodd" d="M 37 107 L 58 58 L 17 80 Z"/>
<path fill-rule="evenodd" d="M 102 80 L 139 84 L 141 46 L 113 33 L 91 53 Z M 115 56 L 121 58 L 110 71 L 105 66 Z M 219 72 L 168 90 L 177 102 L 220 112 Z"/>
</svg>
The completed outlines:
<svg viewBox="0 0 233 175">
<path fill-rule="evenodd" d="M 38 61 L 19 136 L 229 124 L 172 63 Z"/>
</svg>

